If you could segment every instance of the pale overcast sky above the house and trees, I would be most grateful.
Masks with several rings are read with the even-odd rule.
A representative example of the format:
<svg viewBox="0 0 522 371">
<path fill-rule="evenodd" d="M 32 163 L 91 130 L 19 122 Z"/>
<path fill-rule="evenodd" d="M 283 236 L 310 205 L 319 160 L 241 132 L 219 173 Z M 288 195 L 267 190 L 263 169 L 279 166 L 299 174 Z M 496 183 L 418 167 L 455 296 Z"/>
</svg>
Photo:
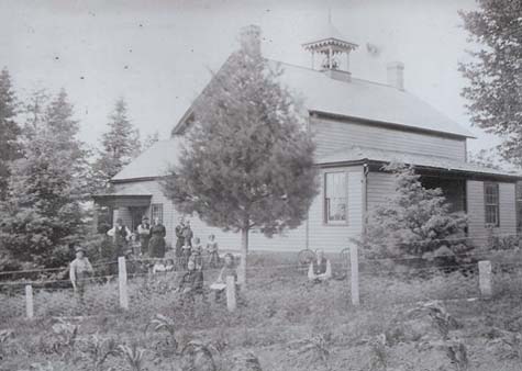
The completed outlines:
<svg viewBox="0 0 522 371">
<path fill-rule="evenodd" d="M 167 138 L 209 70 L 237 48 L 243 25 L 260 25 L 267 57 L 310 66 L 301 44 L 327 22 L 330 8 L 340 32 L 360 45 L 351 58 L 355 77 L 385 82 L 386 64 L 401 60 L 407 90 L 469 127 L 457 66 L 470 46 L 457 11 L 474 7 L 474 0 L 0 0 L 0 66 L 21 98 L 64 87 L 89 144 L 98 143 L 119 97 L 143 134 Z M 469 140 L 470 149 L 492 145 L 471 132 L 479 139 Z"/>
</svg>

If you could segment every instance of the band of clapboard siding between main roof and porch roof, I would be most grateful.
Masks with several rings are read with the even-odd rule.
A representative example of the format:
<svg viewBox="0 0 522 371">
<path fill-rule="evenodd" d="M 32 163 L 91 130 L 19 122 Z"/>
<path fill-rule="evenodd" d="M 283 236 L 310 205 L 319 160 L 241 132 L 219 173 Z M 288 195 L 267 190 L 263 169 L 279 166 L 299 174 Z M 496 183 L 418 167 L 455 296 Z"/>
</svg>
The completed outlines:
<svg viewBox="0 0 522 371">
<path fill-rule="evenodd" d="M 465 138 L 422 134 L 355 121 L 340 122 L 324 117 L 312 117 L 310 127 L 314 134 L 318 157 L 357 145 L 466 160 Z"/>
</svg>

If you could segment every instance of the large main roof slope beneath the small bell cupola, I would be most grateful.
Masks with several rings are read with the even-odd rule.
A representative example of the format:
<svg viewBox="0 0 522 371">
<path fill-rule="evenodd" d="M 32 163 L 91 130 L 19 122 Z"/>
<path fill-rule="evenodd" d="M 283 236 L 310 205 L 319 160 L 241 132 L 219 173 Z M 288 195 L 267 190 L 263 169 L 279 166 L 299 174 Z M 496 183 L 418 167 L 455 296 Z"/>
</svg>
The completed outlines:
<svg viewBox="0 0 522 371">
<path fill-rule="evenodd" d="M 281 83 L 302 100 L 303 108 L 310 113 L 388 124 L 402 130 L 474 137 L 468 130 L 408 91 L 356 78 L 349 82 L 340 81 L 314 69 L 268 61 L 273 68 L 282 68 Z M 192 108 L 189 108 L 173 134 L 182 133 L 191 112 Z"/>
</svg>

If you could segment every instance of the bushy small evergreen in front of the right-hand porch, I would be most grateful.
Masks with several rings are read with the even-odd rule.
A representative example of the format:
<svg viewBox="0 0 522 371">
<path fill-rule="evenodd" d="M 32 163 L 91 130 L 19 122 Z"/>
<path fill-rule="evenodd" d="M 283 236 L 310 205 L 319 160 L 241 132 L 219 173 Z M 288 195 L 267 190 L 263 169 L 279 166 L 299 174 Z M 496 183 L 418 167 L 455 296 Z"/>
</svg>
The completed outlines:
<svg viewBox="0 0 522 371">
<path fill-rule="evenodd" d="M 370 211 L 360 241 L 369 255 L 422 257 L 442 245 L 458 249 L 466 217 L 451 213 L 441 189 L 425 189 L 412 167 L 391 164 L 395 192 Z"/>
</svg>

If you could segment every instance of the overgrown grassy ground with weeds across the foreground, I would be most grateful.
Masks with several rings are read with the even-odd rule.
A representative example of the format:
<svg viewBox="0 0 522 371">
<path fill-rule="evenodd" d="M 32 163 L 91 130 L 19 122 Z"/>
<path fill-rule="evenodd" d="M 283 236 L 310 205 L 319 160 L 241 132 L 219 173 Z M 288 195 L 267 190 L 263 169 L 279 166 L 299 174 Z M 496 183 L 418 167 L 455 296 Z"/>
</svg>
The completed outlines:
<svg viewBox="0 0 522 371">
<path fill-rule="evenodd" d="M 517 271 L 496 272 L 490 301 L 446 301 L 437 310 L 443 315 L 412 316 L 418 302 L 477 296 L 478 278 L 425 272 L 419 279 L 414 271 L 363 267 L 355 307 L 348 281 L 310 285 L 285 259 L 280 268 L 274 254 L 251 257 L 248 291 L 240 292 L 234 313 L 199 300 L 181 306 L 176 274 L 132 279 L 129 312 L 118 306 L 116 282 L 89 288 L 85 306 L 68 290 L 36 290 L 32 322 L 16 310 L 24 313 L 23 296 L 0 297 L 0 330 L 11 330 L 0 344 L 0 370 L 520 370 Z M 216 274 L 206 271 L 206 280 Z M 447 318 L 459 326 L 441 325 Z"/>
</svg>

